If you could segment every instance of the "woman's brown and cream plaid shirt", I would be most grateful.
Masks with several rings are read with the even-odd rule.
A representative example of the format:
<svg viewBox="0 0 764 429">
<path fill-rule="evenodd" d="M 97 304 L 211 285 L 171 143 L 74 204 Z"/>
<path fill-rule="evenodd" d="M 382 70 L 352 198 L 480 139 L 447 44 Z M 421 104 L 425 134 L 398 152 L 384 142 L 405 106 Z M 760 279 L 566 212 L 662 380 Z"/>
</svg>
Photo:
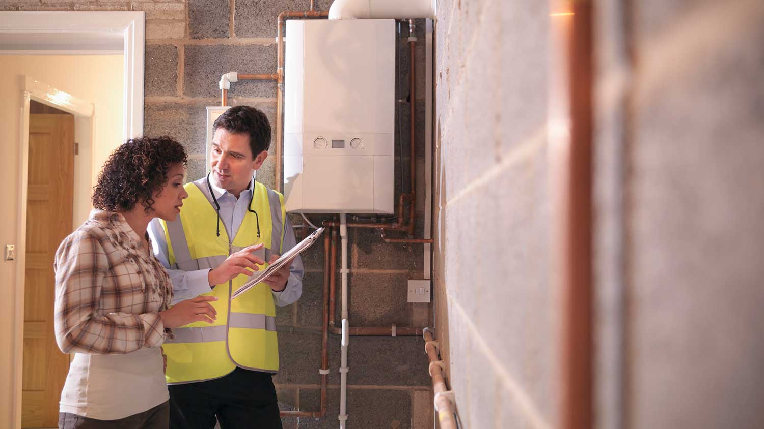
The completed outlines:
<svg viewBox="0 0 764 429">
<path fill-rule="evenodd" d="M 159 316 L 173 298 L 170 277 L 121 214 L 93 210 L 63 240 L 53 270 L 64 353 L 126 354 L 171 335 Z"/>
</svg>

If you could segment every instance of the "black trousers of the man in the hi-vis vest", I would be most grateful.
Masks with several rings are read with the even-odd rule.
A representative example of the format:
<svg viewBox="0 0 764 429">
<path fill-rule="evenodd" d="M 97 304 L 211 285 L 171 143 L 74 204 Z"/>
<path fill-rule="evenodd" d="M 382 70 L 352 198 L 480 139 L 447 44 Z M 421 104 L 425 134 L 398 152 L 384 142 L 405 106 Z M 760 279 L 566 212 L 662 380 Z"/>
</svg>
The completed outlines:
<svg viewBox="0 0 764 429">
<path fill-rule="evenodd" d="M 170 428 L 282 429 L 273 375 L 236 368 L 219 379 L 170 389 Z"/>
</svg>

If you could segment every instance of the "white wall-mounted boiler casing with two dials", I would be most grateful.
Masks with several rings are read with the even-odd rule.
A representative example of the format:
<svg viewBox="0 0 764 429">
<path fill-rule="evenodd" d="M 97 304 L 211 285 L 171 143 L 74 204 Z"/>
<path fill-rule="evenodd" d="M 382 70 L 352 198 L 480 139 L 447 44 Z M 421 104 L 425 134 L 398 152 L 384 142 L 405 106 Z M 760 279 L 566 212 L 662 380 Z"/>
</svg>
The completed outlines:
<svg viewBox="0 0 764 429">
<path fill-rule="evenodd" d="M 393 213 L 395 21 L 286 21 L 284 196 L 294 213 Z"/>
</svg>

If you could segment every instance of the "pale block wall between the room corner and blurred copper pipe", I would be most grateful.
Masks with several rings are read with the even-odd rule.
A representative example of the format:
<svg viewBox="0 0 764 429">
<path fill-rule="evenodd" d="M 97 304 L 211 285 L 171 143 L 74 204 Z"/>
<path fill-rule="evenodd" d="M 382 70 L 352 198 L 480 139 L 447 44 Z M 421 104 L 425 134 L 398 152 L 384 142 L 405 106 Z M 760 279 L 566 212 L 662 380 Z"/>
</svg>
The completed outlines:
<svg viewBox="0 0 764 429">
<path fill-rule="evenodd" d="M 464 427 L 556 427 L 549 4 L 439 2 L 438 14 L 435 325 L 448 382 Z"/>
</svg>

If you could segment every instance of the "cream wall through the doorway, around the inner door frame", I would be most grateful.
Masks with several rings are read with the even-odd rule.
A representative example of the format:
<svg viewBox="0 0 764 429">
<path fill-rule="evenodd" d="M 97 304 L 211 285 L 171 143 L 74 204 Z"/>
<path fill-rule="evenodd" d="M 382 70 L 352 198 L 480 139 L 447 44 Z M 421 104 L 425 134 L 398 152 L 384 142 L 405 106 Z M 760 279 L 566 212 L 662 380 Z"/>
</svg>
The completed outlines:
<svg viewBox="0 0 764 429">
<path fill-rule="evenodd" d="M 0 56 L 0 244 L 19 245 L 19 171 L 21 108 L 24 75 L 65 91 L 95 105 L 95 138 L 92 150 L 92 181 L 108 154 L 122 136 L 123 61 L 121 55 L 108 56 Z M 79 133 L 78 133 L 79 134 Z M 84 149 L 84 148 L 83 148 Z M 92 187 L 92 183 L 89 184 Z M 81 212 L 82 210 L 80 210 Z M 0 299 L 0 427 L 12 427 L 14 336 L 21 315 L 14 314 L 16 262 L 0 262 L 4 299 Z M 51 285 L 52 287 L 52 285 Z M 15 324 L 16 323 L 16 324 Z"/>
</svg>

